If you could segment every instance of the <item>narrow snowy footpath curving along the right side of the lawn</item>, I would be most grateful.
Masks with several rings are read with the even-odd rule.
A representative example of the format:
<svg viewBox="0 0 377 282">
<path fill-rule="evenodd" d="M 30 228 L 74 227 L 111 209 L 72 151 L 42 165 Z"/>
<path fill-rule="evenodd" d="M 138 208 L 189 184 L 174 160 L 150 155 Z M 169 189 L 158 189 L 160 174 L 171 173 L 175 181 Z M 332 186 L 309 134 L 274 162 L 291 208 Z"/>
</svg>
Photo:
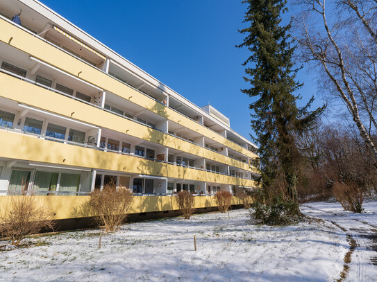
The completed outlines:
<svg viewBox="0 0 377 282">
<path fill-rule="evenodd" d="M 342 229 L 349 238 L 349 258 L 344 258 L 344 281 L 377 281 L 377 227 L 344 213 L 324 211 L 305 204 L 303 213 L 321 218 Z M 355 242 L 355 244 L 354 244 Z"/>
</svg>

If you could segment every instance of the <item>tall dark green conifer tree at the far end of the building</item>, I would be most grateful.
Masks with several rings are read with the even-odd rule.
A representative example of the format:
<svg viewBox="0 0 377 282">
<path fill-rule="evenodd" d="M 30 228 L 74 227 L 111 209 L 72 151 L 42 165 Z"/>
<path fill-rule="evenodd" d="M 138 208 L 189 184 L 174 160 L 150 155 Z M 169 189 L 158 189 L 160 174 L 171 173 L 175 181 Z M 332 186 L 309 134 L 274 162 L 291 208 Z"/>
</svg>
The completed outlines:
<svg viewBox="0 0 377 282">
<path fill-rule="evenodd" d="M 244 62 L 244 80 L 250 89 L 242 89 L 253 98 L 250 104 L 253 139 L 258 143 L 258 161 L 261 177 L 258 180 L 268 187 L 283 183 L 288 200 L 296 202 L 296 183 L 299 175 L 299 150 L 295 134 L 305 130 L 323 112 L 324 107 L 309 112 L 313 101 L 302 108 L 296 91 L 302 84 L 296 81 L 298 69 L 294 68 L 294 47 L 290 37 L 290 24 L 284 26 L 282 13 L 287 11 L 286 0 L 246 0 L 248 9 L 239 30 L 246 35 L 238 48 L 246 47 L 251 55 Z"/>
</svg>

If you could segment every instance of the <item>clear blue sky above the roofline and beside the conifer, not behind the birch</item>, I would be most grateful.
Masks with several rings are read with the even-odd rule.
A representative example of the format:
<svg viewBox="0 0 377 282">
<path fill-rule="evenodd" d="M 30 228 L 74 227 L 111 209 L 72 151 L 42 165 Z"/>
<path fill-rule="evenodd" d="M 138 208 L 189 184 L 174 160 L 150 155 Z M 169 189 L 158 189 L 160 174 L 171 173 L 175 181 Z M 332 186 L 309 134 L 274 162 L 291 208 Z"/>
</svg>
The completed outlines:
<svg viewBox="0 0 377 282">
<path fill-rule="evenodd" d="M 249 52 L 235 48 L 241 0 L 40 1 L 199 107 L 210 102 L 250 139 L 251 98 L 240 91 Z M 299 80 L 307 101 L 315 82 L 305 71 Z"/>
</svg>

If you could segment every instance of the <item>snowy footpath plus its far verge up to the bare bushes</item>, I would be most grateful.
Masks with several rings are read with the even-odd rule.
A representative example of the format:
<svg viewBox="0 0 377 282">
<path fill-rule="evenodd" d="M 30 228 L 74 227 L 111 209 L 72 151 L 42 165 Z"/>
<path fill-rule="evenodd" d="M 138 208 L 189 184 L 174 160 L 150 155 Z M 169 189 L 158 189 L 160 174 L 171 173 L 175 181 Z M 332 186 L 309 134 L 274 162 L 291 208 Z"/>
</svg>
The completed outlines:
<svg viewBox="0 0 377 282">
<path fill-rule="evenodd" d="M 344 211 L 339 203 L 308 203 L 301 211 L 333 222 L 355 240 L 349 263 L 349 274 L 344 281 L 377 281 L 377 202 L 365 202 L 363 213 Z"/>
</svg>

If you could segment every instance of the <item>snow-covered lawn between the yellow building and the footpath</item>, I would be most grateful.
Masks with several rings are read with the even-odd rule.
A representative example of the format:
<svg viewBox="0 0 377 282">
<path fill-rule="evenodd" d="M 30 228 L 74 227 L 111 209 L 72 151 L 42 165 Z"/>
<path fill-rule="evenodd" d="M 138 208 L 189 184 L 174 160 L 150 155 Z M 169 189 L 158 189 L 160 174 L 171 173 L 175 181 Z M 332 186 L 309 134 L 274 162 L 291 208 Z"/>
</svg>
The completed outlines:
<svg viewBox="0 0 377 282">
<path fill-rule="evenodd" d="M 0 252 L 0 281 L 334 281 L 349 249 L 331 223 L 255 226 L 244 209 L 126 224 L 101 249 L 98 230 L 29 241 Z"/>
</svg>

